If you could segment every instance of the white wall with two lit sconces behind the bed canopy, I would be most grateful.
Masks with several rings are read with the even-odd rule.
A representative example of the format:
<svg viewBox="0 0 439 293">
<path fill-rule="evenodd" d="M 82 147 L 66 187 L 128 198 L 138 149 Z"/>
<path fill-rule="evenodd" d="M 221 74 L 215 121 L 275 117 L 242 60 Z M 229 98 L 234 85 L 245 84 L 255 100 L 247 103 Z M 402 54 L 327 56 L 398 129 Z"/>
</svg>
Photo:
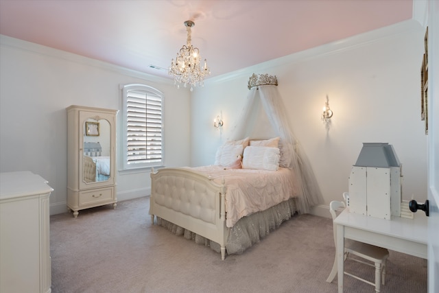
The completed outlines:
<svg viewBox="0 0 439 293">
<path fill-rule="evenodd" d="M 230 137 L 252 73 L 278 78 L 290 126 L 305 150 L 324 197 L 340 200 L 362 143 L 394 146 L 403 163 L 403 198 L 427 198 L 427 137 L 420 121 L 420 65 L 425 29 L 406 21 L 285 56 L 206 81 L 191 98 L 191 165 L 210 165 Z M 275 44 L 273 44 L 275 45 Z M 212 71 L 215 69 L 212 69 Z M 320 120 L 329 95 L 334 112 Z M 213 118 L 222 111 L 222 132 Z M 315 209 L 313 213 L 325 213 Z"/>
</svg>

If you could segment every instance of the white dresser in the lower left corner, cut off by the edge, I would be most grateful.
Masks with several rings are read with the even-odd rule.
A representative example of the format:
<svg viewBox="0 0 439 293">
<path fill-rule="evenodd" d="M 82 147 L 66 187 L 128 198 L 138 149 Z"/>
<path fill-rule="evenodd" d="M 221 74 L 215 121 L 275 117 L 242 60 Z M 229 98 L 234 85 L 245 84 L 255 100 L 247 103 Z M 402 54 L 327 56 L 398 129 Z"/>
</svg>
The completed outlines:
<svg viewBox="0 0 439 293">
<path fill-rule="evenodd" d="M 51 292 L 47 180 L 0 173 L 0 292 Z"/>
</svg>

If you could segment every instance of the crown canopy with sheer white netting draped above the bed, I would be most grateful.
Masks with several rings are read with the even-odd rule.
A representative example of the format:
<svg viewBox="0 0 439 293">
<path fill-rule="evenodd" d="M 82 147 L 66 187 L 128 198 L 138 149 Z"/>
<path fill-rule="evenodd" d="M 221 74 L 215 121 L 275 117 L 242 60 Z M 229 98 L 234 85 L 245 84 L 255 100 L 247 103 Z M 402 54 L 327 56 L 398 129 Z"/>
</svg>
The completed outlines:
<svg viewBox="0 0 439 293">
<path fill-rule="evenodd" d="M 246 104 L 237 120 L 237 125 L 232 130 L 230 139 L 238 140 L 248 136 L 249 121 L 252 120 L 254 104 L 259 99 L 272 128 L 280 137 L 281 159 L 279 165 L 294 169 L 298 178 L 301 178 L 302 212 L 308 213 L 309 207 L 320 204 L 322 196 L 307 156 L 300 149 L 298 140 L 290 130 L 284 110 L 285 106 L 277 85 L 276 75 L 253 73 L 248 80 L 249 92 Z"/>
</svg>

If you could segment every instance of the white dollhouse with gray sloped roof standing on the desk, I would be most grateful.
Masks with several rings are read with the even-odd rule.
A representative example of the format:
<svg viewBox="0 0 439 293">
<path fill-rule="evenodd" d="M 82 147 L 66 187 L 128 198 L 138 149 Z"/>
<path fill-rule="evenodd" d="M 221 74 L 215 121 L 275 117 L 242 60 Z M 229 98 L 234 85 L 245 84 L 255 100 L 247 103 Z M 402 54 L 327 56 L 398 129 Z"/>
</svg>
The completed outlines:
<svg viewBox="0 0 439 293">
<path fill-rule="evenodd" d="M 401 164 L 388 143 L 364 143 L 349 176 L 351 213 L 390 220 L 401 215 Z"/>
</svg>

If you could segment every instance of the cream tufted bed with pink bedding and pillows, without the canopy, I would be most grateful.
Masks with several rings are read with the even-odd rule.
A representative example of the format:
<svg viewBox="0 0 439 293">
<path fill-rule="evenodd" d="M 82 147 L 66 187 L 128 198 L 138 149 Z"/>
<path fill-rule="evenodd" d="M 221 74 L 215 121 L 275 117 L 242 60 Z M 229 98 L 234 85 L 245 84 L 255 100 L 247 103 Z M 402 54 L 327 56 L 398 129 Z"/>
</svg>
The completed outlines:
<svg viewBox="0 0 439 293">
<path fill-rule="evenodd" d="M 214 165 L 152 170 L 152 223 L 156 217 L 157 224 L 210 246 L 224 260 L 226 253 L 243 253 L 302 213 L 296 172 L 272 165 L 279 149 L 267 146 L 270 139 L 259 141 L 262 145 L 250 146 L 248 138 L 224 145 Z"/>
</svg>

